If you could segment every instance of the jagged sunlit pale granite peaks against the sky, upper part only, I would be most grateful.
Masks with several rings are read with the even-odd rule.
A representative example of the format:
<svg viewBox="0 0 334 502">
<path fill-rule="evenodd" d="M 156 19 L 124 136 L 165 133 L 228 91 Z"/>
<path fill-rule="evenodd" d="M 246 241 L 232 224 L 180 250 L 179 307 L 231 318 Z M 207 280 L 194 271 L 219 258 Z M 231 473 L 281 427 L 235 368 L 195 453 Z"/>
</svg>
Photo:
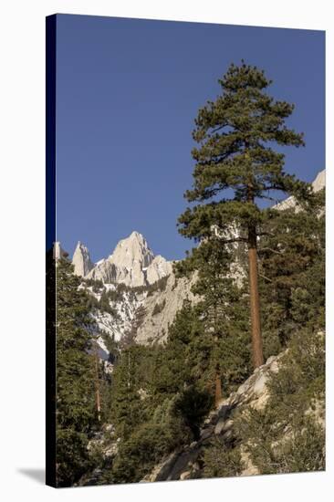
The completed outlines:
<svg viewBox="0 0 334 502">
<path fill-rule="evenodd" d="M 132 288 L 153 284 L 172 272 L 172 263 L 154 256 L 143 235 L 135 231 L 121 239 L 108 258 L 95 265 L 90 261 L 88 248 L 78 242 L 72 263 L 78 276 Z"/>
</svg>

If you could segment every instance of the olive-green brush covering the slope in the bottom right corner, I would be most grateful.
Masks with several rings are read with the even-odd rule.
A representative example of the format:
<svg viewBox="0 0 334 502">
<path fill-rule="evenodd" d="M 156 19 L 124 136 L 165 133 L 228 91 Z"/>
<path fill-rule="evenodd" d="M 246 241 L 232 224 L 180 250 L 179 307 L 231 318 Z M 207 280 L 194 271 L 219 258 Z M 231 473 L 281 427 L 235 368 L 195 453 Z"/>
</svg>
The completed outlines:
<svg viewBox="0 0 334 502">
<path fill-rule="evenodd" d="M 288 344 L 280 370 L 268 384 L 263 410 L 241 413 L 239 440 L 262 474 L 325 468 L 324 335 L 301 330 Z"/>
</svg>

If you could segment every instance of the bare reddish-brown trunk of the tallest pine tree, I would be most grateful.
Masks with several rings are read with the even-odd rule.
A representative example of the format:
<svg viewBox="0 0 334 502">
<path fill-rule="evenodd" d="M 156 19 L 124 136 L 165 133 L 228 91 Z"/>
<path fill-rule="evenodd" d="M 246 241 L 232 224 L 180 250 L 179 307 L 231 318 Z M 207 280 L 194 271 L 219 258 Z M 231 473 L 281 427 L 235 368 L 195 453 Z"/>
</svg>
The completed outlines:
<svg viewBox="0 0 334 502">
<path fill-rule="evenodd" d="M 248 226 L 249 296 L 252 325 L 253 364 L 257 368 L 264 363 L 261 336 L 260 298 L 258 294 L 258 272 L 256 252 L 256 225 Z"/>
</svg>

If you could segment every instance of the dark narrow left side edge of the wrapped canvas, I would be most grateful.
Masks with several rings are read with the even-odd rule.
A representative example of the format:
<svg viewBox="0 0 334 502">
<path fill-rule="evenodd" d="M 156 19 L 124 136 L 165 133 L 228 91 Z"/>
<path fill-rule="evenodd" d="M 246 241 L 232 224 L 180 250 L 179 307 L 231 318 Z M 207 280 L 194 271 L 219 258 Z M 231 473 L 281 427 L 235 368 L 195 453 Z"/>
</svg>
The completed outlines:
<svg viewBox="0 0 334 502">
<path fill-rule="evenodd" d="M 57 16 L 46 18 L 46 484 L 56 478 L 56 36 Z"/>
</svg>

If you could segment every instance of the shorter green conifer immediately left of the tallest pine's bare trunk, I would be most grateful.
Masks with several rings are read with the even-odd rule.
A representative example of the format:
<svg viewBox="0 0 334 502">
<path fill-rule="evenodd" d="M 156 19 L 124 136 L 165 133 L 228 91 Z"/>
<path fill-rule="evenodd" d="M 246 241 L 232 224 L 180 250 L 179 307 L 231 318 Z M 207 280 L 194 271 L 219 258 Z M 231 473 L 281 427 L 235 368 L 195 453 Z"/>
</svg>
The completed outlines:
<svg viewBox="0 0 334 502">
<path fill-rule="evenodd" d="M 247 309 L 244 292 L 231 277 L 234 258 L 233 250 L 222 246 L 221 239 L 214 235 L 194 248 L 192 256 L 175 265 L 181 276 L 197 271 L 192 291 L 200 299 L 193 311 L 203 325 L 198 336 L 205 340 L 190 343 L 193 351 L 205 356 L 205 373 L 210 390 L 214 388 L 216 406 L 223 397 L 223 387 L 224 392 L 230 391 L 230 385 L 243 380 L 249 371 Z M 195 350 L 199 343 L 206 347 L 205 354 L 200 347 Z"/>
</svg>

